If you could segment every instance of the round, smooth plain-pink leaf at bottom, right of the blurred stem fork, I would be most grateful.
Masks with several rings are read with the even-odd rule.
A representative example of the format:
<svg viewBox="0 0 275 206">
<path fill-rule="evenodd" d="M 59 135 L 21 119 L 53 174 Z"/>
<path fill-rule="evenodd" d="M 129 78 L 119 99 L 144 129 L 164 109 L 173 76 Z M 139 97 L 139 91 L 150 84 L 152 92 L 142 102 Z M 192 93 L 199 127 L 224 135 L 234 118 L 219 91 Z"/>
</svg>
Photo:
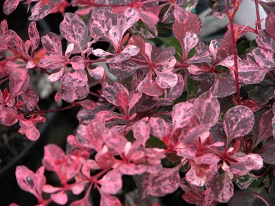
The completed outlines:
<svg viewBox="0 0 275 206">
<path fill-rule="evenodd" d="M 122 177 L 119 172 L 108 172 L 98 181 L 100 190 L 107 194 L 117 194 L 122 189 Z"/>
</svg>

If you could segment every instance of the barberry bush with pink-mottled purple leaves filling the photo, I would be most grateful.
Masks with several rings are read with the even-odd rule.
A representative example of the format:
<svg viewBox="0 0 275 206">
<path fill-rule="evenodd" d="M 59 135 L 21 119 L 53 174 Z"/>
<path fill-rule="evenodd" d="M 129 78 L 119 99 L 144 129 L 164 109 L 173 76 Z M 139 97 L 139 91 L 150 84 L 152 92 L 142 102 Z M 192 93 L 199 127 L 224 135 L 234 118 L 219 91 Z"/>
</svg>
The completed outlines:
<svg viewBox="0 0 275 206">
<path fill-rule="evenodd" d="M 258 19 L 249 27 L 233 23 L 241 0 L 215 1 L 209 15 L 230 23 L 223 38 L 203 43 L 192 12 L 197 0 L 5 0 L 4 14 L 25 3 L 32 22 L 28 41 L 1 22 L 0 124 L 19 123 L 18 132 L 35 141 L 45 113 L 82 107 L 66 152 L 49 144 L 36 172 L 17 166 L 22 190 L 39 205 L 65 205 L 69 191 L 85 193 L 72 206 L 91 205 L 94 190 L 100 205 L 121 205 L 116 194 L 129 175 L 140 198 L 180 187 L 196 205 L 272 205 L 275 3 L 254 2 Z M 36 21 L 56 12 L 63 14 L 60 34 L 40 36 Z M 256 40 L 240 52 L 248 32 Z M 109 49 L 94 47 L 102 41 Z M 70 106 L 41 111 L 33 70 L 59 82 L 55 101 Z M 96 84 L 101 89 L 93 91 Z M 47 184 L 45 170 L 57 174 L 58 187 Z"/>
</svg>

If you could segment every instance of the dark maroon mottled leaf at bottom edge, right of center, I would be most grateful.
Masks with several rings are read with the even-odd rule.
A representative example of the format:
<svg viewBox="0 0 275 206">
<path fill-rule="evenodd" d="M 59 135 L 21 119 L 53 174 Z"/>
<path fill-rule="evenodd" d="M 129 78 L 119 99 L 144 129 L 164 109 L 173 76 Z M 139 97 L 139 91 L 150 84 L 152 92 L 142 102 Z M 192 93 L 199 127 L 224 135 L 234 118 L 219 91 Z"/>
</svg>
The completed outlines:
<svg viewBox="0 0 275 206">
<path fill-rule="evenodd" d="M 232 181 L 226 172 L 215 176 L 209 184 L 215 200 L 219 203 L 227 203 L 234 194 Z"/>
</svg>

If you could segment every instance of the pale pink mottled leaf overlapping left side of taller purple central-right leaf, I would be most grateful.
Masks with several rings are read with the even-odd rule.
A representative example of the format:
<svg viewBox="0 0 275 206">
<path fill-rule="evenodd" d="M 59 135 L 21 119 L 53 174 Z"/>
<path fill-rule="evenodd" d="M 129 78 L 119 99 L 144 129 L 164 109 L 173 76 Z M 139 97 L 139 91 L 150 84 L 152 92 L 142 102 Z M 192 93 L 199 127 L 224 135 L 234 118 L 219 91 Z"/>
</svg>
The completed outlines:
<svg viewBox="0 0 275 206">
<path fill-rule="evenodd" d="M 173 130 L 183 128 L 190 123 L 190 119 L 195 114 L 195 108 L 190 102 L 180 102 L 173 106 Z"/>
</svg>

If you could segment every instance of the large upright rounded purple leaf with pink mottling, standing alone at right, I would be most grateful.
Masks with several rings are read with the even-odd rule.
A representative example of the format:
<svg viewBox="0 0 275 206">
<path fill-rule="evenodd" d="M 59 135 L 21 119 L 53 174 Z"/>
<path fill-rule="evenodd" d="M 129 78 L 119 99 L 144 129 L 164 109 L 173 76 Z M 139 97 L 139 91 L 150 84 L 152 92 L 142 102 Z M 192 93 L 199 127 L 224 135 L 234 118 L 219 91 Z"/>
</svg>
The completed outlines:
<svg viewBox="0 0 275 206">
<path fill-rule="evenodd" d="M 248 135 L 254 125 L 254 115 L 246 106 L 234 106 L 225 113 L 223 129 L 225 130 L 228 143 L 236 138 Z"/>
</svg>

